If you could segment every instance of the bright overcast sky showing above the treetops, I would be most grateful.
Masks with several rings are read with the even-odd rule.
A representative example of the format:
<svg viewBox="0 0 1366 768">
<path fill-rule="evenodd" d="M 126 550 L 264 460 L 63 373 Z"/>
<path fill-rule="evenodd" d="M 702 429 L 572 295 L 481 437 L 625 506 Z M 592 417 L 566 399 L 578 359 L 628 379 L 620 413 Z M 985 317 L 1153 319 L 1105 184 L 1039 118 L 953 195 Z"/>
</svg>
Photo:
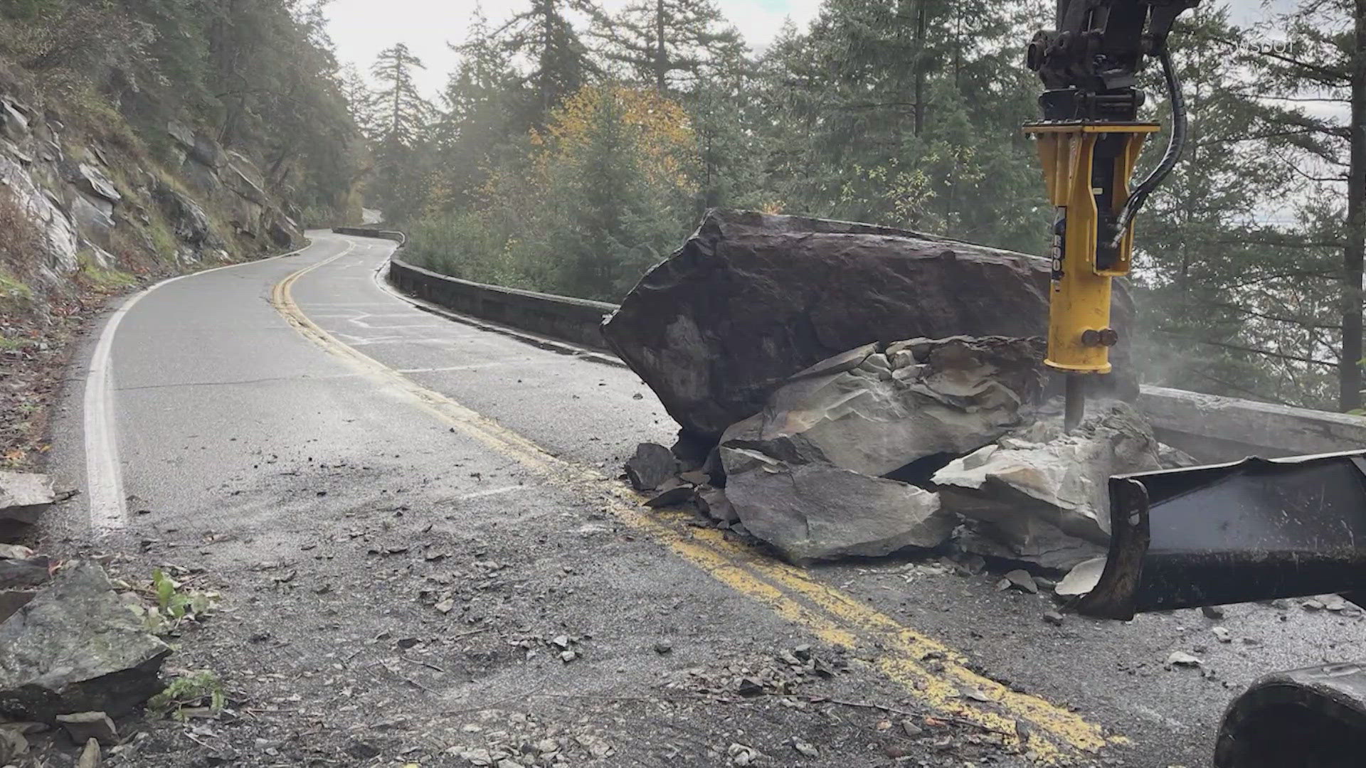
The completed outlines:
<svg viewBox="0 0 1366 768">
<path fill-rule="evenodd" d="M 601 4 L 608 11 L 616 11 L 628 1 L 602 0 Z M 766 46 L 787 18 L 805 27 L 821 4 L 820 0 L 716 1 L 754 49 Z M 1261 15 L 1262 8 L 1262 0 L 1205 1 L 1228 3 L 1233 10 L 1233 19 L 1242 23 L 1249 23 Z M 1291 1 L 1272 0 L 1272 5 L 1287 7 Z M 464 40 L 470 12 L 478 4 L 477 0 L 332 0 L 326 14 L 331 20 L 329 31 L 342 61 L 350 61 L 367 71 L 376 53 L 395 42 L 406 42 L 426 64 L 421 79 L 423 90 L 436 96 L 445 85 L 447 74 L 455 67 L 456 56 L 447 42 Z M 485 0 L 482 5 L 489 22 L 499 23 L 514 11 L 526 7 L 526 1 Z"/>
</svg>

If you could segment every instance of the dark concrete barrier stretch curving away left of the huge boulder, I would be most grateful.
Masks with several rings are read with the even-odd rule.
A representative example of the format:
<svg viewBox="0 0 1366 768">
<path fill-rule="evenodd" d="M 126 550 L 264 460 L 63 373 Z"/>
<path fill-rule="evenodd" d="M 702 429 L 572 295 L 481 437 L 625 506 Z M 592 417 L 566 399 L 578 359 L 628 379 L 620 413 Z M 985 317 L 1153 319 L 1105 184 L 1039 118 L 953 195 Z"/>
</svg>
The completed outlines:
<svg viewBox="0 0 1366 768">
<path fill-rule="evenodd" d="M 406 294 L 462 314 L 594 350 L 607 350 L 602 317 L 616 310 L 615 303 L 459 280 L 399 258 L 389 261 L 389 282 Z"/>
</svg>

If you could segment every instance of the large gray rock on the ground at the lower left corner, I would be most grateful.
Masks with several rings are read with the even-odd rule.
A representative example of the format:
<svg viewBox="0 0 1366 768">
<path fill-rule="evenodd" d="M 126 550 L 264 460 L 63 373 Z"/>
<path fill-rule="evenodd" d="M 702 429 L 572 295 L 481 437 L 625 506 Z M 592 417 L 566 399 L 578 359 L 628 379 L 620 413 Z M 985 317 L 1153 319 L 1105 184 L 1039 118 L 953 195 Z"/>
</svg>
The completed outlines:
<svg viewBox="0 0 1366 768">
<path fill-rule="evenodd" d="M 117 717 L 161 690 L 169 653 L 104 568 L 71 563 L 0 623 L 0 713 L 44 723 L 70 712 Z"/>
</svg>

